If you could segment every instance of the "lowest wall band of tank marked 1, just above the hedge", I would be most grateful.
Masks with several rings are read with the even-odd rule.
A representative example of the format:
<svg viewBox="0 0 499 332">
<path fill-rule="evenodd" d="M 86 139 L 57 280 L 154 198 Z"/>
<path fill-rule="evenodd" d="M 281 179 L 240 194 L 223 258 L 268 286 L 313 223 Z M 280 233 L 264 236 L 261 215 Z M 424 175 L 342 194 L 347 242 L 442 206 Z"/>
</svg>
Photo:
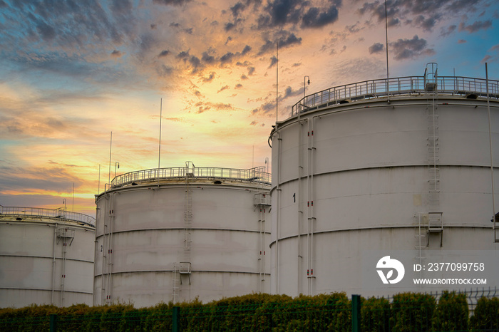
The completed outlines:
<svg viewBox="0 0 499 332">
<path fill-rule="evenodd" d="M 483 259 L 483 251 L 493 251 L 490 243 L 493 241 L 490 229 L 469 227 L 448 227 L 444 232 L 443 248 L 446 251 L 462 251 L 463 238 L 469 242 L 476 243 L 473 246 L 475 256 L 467 255 L 467 258 L 473 257 L 473 261 L 485 261 Z M 279 293 L 297 296 L 307 294 L 307 271 L 304 271 L 301 276 L 298 275 L 299 261 L 296 259 L 298 247 L 298 238 L 293 237 L 279 242 Z M 307 247 L 307 237 L 301 237 L 302 246 Z M 432 236 L 430 247 L 426 250 L 441 251 L 440 239 L 437 235 Z M 313 294 L 329 294 L 333 291 L 345 291 L 348 296 L 351 294 L 361 294 L 362 296 L 393 296 L 393 294 L 414 291 L 414 292 L 435 292 L 435 286 L 413 286 L 408 288 L 405 284 L 398 287 L 397 285 L 379 286 L 379 289 L 365 286 L 371 284 L 372 281 L 378 281 L 378 276 L 374 274 L 363 273 L 366 269 L 366 264 L 376 265 L 377 259 L 381 255 L 376 256 L 376 260 L 366 261 L 373 255 L 374 252 L 392 252 L 399 254 L 403 252 L 404 256 L 410 256 L 411 264 L 406 265 L 406 274 L 410 275 L 412 264 L 418 263 L 418 252 L 414 249 L 414 229 L 413 227 L 406 228 L 384 228 L 384 229 L 361 229 L 353 231 L 339 231 L 314 234 L 314 282 L 312 283 Z M 471 251 L 466 251 L 468 254 Z M 455 260 L 455 259 L 454 259 Z M 428 257 L 426 261 L 431 261 Z M 497 259 L 495 259 L 497 261 Z M 405 261 L 404 261 L 405 263 Z M 424 264 L 424 261 L 423 261 Z M 306 262 L 304 261 L 306 266 Z M 274 268 L 275 266 L 273 266 Z M 495 268 L 495 266 L 490 266 Z M 272 272 L 274 269 L 272 270 Z M 285 274 L 285 275 L 283 275 Z M 417 275 L 418 278 L 434 278 L 435 274 L 428 271 L 423 271 Z M 302 278 L 302 285 L 299 287 L 297 280 Z M 276 287 L 275 285 L 272 285 Z M 497 286 L 497 281 L 488 278 L 488 284 L 483 285 L 485 288 Z M 481 287 L 481 285 L 479 286 Z M 453 286 L 441 286 L 440 289 L 453 289 Z M 470 285 L 456 285 L 455 289 L 470 289 Z M 476 288 L 474 286 L 473 288 Z M 275 289 L 273 289 L 275 291 Z"/>
</svg>

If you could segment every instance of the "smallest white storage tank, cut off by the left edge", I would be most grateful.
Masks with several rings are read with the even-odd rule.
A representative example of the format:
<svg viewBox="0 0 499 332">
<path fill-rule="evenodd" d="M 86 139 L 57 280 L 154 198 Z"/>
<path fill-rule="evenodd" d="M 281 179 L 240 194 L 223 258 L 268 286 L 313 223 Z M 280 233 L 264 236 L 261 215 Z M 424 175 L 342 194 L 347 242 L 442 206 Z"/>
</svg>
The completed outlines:
<svg viewBox="0 0 499 332">
<path fill-rule="evenodd" d="M 0 308 L 92 304 L 96 219 L 0 207 Z"/>
</svg>

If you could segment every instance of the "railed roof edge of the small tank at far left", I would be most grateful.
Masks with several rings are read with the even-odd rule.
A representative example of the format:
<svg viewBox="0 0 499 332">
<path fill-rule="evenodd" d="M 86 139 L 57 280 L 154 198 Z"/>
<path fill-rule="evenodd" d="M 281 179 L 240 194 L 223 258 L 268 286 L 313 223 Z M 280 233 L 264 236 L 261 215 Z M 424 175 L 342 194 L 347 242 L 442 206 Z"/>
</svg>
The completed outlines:
<svg viewBox="0 0 499 332">
<path fill-rule="evenodd" d="M 15 218 L 17 221 L 27 219 L 51 219 L 57 222 L 70 222 L 96 228 L 96 219 L 86 214 L 70 212 L 65 209 L 44 209 L 42 207 L 3 207 L 0 205 L 0 219 Z"/>
</svg>

